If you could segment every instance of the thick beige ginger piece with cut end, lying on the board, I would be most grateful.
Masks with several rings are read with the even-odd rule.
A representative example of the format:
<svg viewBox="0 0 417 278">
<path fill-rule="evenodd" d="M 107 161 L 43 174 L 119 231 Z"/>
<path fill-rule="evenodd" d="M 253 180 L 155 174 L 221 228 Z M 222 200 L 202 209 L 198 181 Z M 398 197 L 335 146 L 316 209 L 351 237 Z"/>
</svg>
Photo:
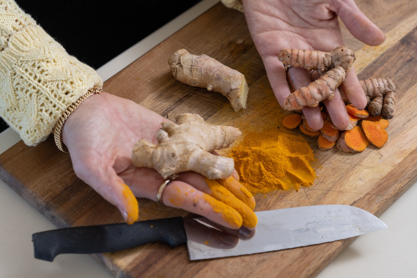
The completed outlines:
<svg viewBox="0 0 417 278">
<path fill-rule="evenodd" d="M 245 76 L 239 71 L 205 54 L 197 56 L 185 49 L 173 53 L 168 64 L 178 81 L 223 94 L 229 99 L 235 112 L 246 108 L 249 87 Z"/>
</svg>

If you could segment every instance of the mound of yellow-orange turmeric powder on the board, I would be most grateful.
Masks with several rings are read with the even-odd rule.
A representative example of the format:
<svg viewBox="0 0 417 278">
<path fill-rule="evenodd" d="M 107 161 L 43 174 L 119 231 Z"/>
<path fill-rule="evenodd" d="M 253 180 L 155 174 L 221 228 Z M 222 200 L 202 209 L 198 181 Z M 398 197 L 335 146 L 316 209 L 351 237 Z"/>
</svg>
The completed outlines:
<svg viewBox="0 0 417 278">
<path fill-rule="evenodd" d="M 302 136 L 291 131 L 246 134 L 227 156 L 234 159 L 240 182 L 252 194 L 310 187 L 316 177 L 314 153 Z"/>
</svg>

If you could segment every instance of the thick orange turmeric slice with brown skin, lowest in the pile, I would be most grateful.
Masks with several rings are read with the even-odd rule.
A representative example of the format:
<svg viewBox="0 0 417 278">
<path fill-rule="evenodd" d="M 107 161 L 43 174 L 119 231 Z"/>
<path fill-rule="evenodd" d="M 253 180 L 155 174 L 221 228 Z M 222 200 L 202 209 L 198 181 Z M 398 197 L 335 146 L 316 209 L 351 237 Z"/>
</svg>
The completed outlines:
<svg viewBox="0 0 417 278">
<path fill-rule="evenodd" d="M 342 152 L 363 152 L 368 145 L 369 141 L 359 126 L 344 131 L 336 142 L 337 149 Z"/>
</svg>

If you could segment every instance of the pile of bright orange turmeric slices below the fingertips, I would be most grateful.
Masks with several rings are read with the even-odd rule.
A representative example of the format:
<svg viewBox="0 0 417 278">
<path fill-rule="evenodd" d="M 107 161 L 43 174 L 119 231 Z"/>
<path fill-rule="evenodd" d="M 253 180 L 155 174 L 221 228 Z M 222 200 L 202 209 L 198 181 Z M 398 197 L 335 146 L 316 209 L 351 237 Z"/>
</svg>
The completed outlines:
<svg viewBox="0 0 417 278">
<path fill-rule="evenodd" d="M 324 116 L 323 127 L 319 131 L 310 129 L 304 115 L 290 114 L 286 116 L 282 125 L 295 129 L 298 123 L 302 133 L 309 136 L 318 136 L 317 147 L 321 150 L 329 150 L 334 146 L 342 152 L 362 152 L 369 144 L 382 147 L 388 141 L 388 120 L 382 115 L 371 116 L 367 110 L 358 110 L 352 104 L 346 106 L 350 118 L 349 126 L 340 131 L 333 125 L 329 115 Z M 296 118 L 294 115 L 299 117 Z M 289 124 L 291 122 L 291 124 Z"/>
</svg>

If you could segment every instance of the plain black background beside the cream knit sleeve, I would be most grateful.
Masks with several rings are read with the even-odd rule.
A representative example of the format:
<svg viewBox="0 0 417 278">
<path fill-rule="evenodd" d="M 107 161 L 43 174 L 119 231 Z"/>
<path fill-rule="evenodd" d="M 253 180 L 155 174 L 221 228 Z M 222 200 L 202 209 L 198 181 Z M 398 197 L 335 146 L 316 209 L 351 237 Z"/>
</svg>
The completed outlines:
<svg viewBox="0 0 417 278">
<path fill-rule="evenodd" d="M 201 0 L 16 0 L 66 51 L 93 68 Z M 0 121 L 0 131 L 8 126 Z"/>
</svg>

